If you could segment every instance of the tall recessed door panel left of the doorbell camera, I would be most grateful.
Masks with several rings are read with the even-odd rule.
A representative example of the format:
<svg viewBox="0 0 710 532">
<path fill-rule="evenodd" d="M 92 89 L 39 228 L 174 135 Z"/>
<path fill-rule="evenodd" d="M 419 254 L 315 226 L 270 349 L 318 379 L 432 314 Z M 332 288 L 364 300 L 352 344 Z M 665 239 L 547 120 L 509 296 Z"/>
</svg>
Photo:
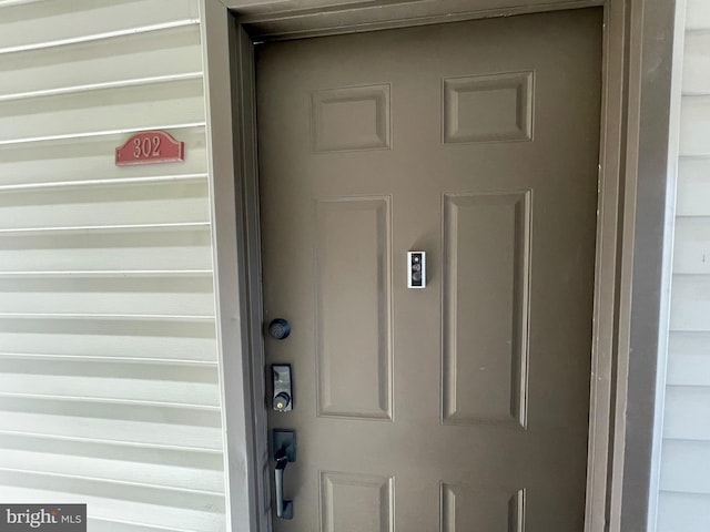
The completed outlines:
<svg viewBox="0 0 710 532">
<path fill-rule="evenodd" d="M 392 417 L 389 204 L 317 202 L 318 416 Z"/>
</svg>

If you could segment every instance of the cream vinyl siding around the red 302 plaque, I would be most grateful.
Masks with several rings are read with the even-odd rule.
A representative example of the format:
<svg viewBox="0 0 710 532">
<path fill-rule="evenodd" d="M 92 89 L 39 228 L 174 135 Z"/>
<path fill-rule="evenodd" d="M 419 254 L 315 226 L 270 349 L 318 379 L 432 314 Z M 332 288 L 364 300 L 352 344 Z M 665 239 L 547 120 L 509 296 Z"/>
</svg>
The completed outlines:
<svg viewBox="0 0 710 532">
<path fill-rule="evenodd" d="M 0 0 L 3 503 L 226 528 L 202 57 L 197 0 Z"/>
</svg>

